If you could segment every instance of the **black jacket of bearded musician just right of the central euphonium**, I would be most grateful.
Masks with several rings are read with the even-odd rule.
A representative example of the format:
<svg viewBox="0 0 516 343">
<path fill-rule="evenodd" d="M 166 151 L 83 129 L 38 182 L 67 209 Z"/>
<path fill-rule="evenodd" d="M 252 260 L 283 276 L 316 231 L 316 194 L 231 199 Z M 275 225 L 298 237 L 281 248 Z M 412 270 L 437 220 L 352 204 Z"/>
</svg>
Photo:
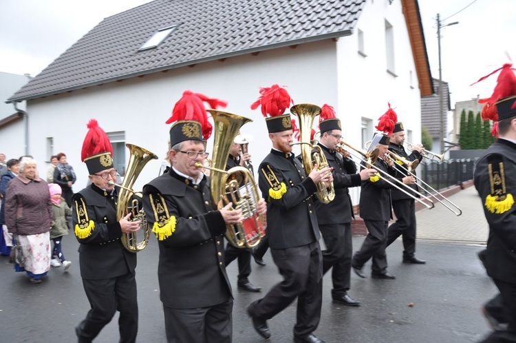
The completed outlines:
<svg viewBox="0 0 516 343">
<path fill-rule="evenodd" d="M 333 167 L 335 198 L 327 204 L 315 200 L 317 221 L 319 225 L 347 224 L 354 218 L 350 191 L 347 187 L 360 186 L 360 174 L 356 174 L 356 165 L 352 160 L 343 158 L 338 152 L 330 152 L 324 145 L 319 146 L 326 156 L 328 165 Z"/>
</svg>

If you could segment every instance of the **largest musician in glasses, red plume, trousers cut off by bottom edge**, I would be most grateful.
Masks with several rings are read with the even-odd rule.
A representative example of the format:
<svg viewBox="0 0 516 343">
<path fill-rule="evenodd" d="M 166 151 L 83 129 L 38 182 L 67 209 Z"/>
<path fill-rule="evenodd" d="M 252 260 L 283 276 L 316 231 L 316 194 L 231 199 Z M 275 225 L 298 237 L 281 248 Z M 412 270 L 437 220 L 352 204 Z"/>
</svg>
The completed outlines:
<svg viewBox="0 0 516 343">
<path fill-rule="evenodd" d="M 166 340 L 231 342 L 233 295 L 224 266 L 224 232 L 243 217 L 222 209 L 211 198 L 208 178 L 196 163 L 208 156 L 203 143 L 211 134 L 203 101 L 224 105 L 202 94 L 184 92 L 167 123 L 171 169 L 143 187 L 144 210 L 158 238 L 158 280 Z M 195 118 L 184 120 L 184 118 Z M 257 213 L 266 210 L 259 201 Z"/>
</svg>

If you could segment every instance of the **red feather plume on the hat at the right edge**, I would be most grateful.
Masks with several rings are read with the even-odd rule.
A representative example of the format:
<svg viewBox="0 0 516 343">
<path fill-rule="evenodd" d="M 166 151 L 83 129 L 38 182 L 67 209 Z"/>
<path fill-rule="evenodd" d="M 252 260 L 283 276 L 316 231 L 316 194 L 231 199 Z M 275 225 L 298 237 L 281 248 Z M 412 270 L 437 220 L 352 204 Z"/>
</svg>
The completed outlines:
<svg viewBox="0 0 516 343">
<path fill-rule="evenodd" d="M 501 68 L 498 68 L 491 74 L 481 77 L 477 82 L 483 81 L 487 79 L 489 76 L 495 74 L 500 71 L 498 75 L 497 84 L 495 86 L 495 90 L 493 90 L 493 94 L 491 98 L 482 98 L 478 102 L 485 103 L 484 108 L 482 108 L 482 119 L 484 121 L 498 121 L 498 111 L 496 109 L 496 103 L 501 98 L 506 98 L 507 96 L 512 96 L 516 94 L 516 75 L 513 70 L 516 70 L 512 67 L 511 63 L 504 64 Z M 471 83 L 474 85 L 475 83 Z M 493 127 L 494 128 L 494 127 Z M 494 135 L 493 135 L 494 136 Z"/>
</svg>

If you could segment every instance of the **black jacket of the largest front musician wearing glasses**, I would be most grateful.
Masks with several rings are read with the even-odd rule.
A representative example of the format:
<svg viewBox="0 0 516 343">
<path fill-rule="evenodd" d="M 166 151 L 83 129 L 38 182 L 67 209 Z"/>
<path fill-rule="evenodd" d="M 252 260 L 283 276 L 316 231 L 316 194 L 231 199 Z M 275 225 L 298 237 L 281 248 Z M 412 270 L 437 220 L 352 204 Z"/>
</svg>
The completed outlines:
<svg viewBox="0 0 516 343">
<path fill-rule="evenodd" d="M 231 296 L 224 267 L 226 223 L 213 211 L 208 178 L 199 185 L 179 176 L 171 168 L 143 187 L 143 206 L 151 227 L 156 222 L 153 199 L 165 201 L 165 213 L 175 217 L 175 231 L 159 240 L 158 280 L 164 305 L 173 309 L 194 309 L 221 304 Z"/>
</svg>

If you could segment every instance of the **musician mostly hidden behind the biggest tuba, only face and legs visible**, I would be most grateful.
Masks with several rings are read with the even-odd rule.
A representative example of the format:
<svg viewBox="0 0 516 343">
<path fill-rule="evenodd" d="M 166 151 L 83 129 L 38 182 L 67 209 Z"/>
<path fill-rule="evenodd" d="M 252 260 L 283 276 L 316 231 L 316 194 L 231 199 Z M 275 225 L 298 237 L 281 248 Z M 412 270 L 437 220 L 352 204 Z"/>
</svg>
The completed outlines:
<svg viewBox="0 0 516 343">
<path fill-rule="evenodd" d="M 241 154 L 242 149 L 238 143 L 233 142 L 229 151 L 228 163 L 226 164 L 226 170 L 233 167 L 246 165 L 246 161 L 249 161 L 251 155 L 249 153 Z M 259 292 L 261 287 L 256 287 L 254 284 L 249 282 L 249 276 L 251 273 L 251 249 L 250 248 L 237 248 L 233 245 L 226 245 L 226 255 L 224 257 L 224 264 L 226 267 L 235 258 L 238 259 L 238 282 L 237 287 L 248 292 Z"/>
</svg>

